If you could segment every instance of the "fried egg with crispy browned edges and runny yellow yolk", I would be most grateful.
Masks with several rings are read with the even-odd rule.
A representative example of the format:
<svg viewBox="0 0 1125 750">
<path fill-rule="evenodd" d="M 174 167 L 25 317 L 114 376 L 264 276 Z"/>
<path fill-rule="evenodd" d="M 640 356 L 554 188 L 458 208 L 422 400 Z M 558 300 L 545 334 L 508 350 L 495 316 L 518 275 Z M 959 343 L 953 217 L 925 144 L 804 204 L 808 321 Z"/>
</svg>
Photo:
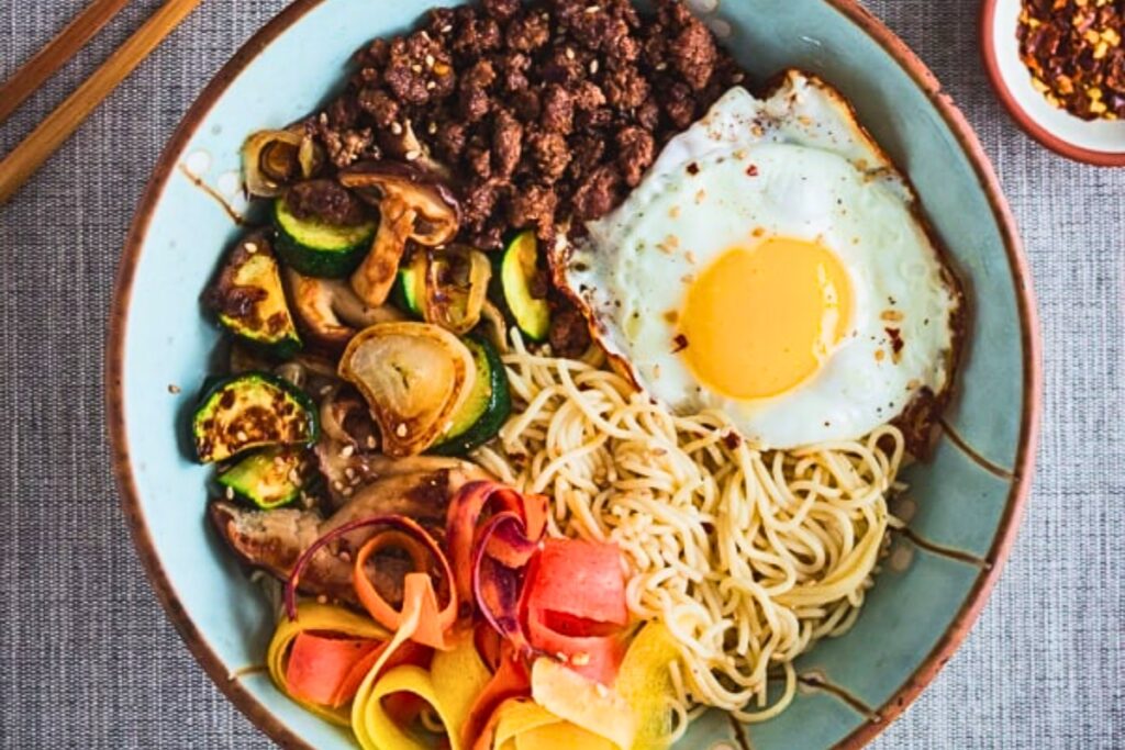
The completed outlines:
<svg viewBox="0 0 1125 750">
<path fill-rule="evenodd" d="M 552 256 L 601 346 L 759 448 L 861 437 L 951 383 L 956 283 L 915 196 L 822 81 L 741 88 Z"/>
</svg>

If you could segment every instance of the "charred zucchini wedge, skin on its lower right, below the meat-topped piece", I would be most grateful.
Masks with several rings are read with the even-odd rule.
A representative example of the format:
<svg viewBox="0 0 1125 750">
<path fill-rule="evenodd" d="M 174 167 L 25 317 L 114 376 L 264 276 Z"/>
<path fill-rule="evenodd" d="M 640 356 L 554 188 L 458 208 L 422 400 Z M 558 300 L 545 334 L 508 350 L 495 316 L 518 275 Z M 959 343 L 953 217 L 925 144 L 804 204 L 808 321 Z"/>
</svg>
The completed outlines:
<svg viewBox="0 0 1125 750">
<path fill-rule="evenodd" d="M 205 301 L 224 328 L 264 353 L 288 359 L 300 351 L 278 261 L 264 235 L 250 235 L 231 250 Z"/>
</svg>

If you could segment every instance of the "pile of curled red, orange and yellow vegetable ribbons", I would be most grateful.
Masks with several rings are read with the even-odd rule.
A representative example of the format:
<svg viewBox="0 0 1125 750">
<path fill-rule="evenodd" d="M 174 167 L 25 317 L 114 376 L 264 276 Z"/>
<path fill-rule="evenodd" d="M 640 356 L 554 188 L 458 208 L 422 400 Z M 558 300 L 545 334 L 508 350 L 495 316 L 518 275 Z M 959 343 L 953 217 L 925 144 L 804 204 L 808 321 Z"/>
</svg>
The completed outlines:
<svg viewBox="0 0 1125 750">
<path fill-rule="evenodd" d="M 543 540 L 547 513 L 541 495 L 471 482 L 450 503 L 448 557 L 422 526 L 398 515 L 322 536 L 287 582 L 289 618 L 270 645 L 274 681 L 306 708 L 350 724 L 363 750 L 426 750 L 410 731 L 426 705 L 450 750 L 630 750 L 633 705 L 654 704 L 648 684 L 633 685 L 634 704 L 604 687 L 624 656 L 620 552 L 612 544 Z M 378 530 L 356 552 L 352 582 L 371 620 L 342 607 L 298 605 L 300 575 L 313 557 L 368 527 Z M 399 608 L 367 572 L 387 549 L 405 552 L 413 567 Z M 475 613 L 487 625 L 470 626 Z M 540 658 L 529 669 L 536 653 L 565 657 L 565 666 Z"/>
</svg>

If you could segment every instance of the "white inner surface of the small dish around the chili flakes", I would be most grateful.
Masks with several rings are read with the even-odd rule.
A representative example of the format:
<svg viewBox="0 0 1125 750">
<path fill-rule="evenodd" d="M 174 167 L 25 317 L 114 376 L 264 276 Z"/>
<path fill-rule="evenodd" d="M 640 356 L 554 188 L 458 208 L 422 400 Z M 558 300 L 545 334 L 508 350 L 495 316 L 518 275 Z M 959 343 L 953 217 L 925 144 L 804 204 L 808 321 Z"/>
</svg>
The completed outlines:
<svg viewBox="0 0 1125 750">
<path fill-rule="evenodd" d="M 988 4 L 988 3 L 986 3 Z M 1011 106 L 1023 112 L 1050 136 L 1072 146 L 1102 154 L 1125 156 L 1125 121 L 1087 121 L 1047 103 L 1042 93 L 1032 85 L 1032 75 L 1019 60 L 1019 42 L 1016 29 L 1019 25 L 1020 0 L 994 0 L 990 12 L 990 49 L 996 74 L 1011 98 Z"/>
</svg>

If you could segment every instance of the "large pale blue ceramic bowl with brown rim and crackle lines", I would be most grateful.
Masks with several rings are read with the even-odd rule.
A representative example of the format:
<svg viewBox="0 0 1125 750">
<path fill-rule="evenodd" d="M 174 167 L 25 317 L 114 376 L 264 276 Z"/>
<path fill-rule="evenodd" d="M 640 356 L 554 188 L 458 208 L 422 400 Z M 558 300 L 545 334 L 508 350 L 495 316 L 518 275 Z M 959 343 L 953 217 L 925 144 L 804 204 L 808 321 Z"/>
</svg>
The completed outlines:
<svg viewBox="0 0 1125 750">
<path fill-rule="evenodd" d="M 207 468 L 177 440 L 217 333 L 199 292 L 238 233 L 238 148 L 317 106 L 351 52 L 406 29 L 432 0 L 297 0 L 222 70 L 184 117 L 137 210 L 109 340 L 108 414 L 124 507 L 152 585 L 218 687 L 289 748 L 350 747 L 290 703 L 262 669 L 271 618 L 205 522 Z M 684 750 L 860 747 L 929 683 L 964 638 L 1012 543 L 1038 415 L 1037 327 L 1027 268 L 996 177 L 926 67 L 850 0 L 700 0 L 696 10 L 764 80 L 786 66 L 822 75 L 910 175 L 969 290 L 957 397 L 933 461 L 910 491 L 855 627 L 798 663 L 780 717 L 739 726 L 712 713 Z M 296 64 L 299 61 L 299 64 Z"/>
</svg>

